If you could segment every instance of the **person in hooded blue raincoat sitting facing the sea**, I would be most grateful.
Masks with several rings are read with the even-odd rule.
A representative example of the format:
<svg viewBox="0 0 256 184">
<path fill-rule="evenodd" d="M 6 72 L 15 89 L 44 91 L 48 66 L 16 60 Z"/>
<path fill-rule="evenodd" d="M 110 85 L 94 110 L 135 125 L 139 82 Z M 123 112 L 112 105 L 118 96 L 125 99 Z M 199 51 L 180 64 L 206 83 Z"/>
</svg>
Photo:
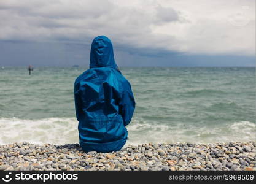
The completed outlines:
<svg viewBox="0 0 256 184">
<path fill-rule="evenodd" d="M 131 85 L 115 64 L 111 40 L 96 37 L 91 44 L 90 69 L 74 84 L 79 142 L 85 152 L 111 152 L 125 145 L 125 128 L 133 117 Z"/>
</svg>

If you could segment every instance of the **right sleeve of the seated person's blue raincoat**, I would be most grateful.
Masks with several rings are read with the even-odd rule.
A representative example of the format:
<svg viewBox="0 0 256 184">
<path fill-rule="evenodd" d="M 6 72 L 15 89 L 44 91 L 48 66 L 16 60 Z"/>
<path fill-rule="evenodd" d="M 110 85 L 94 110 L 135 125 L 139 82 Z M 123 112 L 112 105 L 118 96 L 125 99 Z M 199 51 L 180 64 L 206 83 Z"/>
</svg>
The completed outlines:
<svg viewBox="0 0 256 184">
<path fill-rule="evenodd" d="M 133 112 L 135 109 L 135 100 L 133 96 L 133 91 L 131 91 L 130 84 L 122 93 L 122 99 L 120 100 L 120 114 L 123 117 L 124 125 L 128 125 L 133 117 Z"/>
</svg>

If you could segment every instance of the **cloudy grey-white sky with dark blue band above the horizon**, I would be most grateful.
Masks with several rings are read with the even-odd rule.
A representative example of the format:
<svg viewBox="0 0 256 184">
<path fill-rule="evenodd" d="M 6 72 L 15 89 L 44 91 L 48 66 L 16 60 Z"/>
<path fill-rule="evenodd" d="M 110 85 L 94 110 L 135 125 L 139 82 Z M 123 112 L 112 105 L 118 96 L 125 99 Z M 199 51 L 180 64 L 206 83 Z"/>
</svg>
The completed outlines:
<svg viewBox="0 0 256 184">
<path fill-rule="evenodd" d="M 254 0 L 0 1 L 0 66 L 88 66 L 112 40 L 119 66 L 255 66 Z"/>
</svg>

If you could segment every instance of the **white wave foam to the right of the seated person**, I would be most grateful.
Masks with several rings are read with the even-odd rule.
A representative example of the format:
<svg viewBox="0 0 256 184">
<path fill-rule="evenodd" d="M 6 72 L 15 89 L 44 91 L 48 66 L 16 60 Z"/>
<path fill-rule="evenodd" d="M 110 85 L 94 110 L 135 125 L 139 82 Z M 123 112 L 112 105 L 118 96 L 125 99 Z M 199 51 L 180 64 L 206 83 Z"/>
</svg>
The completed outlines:
<svg viewBox="0 0 256 184">
<path fill-rule="evenodd" d="M 128 125 L 129 140 L 126 145 L 137 145 L 145 142 L 248 142 L 256 140 L 256 124 L 249 121 L 225 123 L 206 126 L 191 123 L 164 125 L 148 124 L 141 119 L 134 119 Z"/>
</svg>

